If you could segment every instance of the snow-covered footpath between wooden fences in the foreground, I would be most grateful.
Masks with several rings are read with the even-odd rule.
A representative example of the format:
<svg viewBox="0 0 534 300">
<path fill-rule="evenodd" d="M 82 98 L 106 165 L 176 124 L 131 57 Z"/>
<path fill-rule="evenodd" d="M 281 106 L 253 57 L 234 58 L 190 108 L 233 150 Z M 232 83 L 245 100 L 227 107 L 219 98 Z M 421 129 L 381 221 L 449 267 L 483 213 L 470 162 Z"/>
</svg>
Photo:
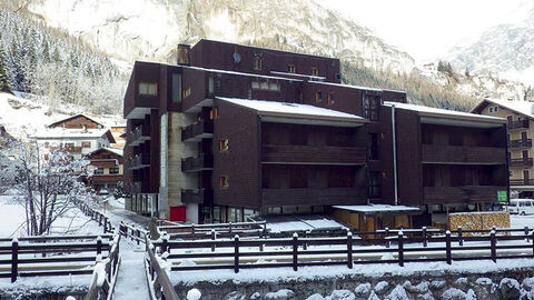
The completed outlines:
<svg viewBox="0 0 534 300">
<path fill-rule="evenodd" d="M 113 299 L 150 299 L 145 272 L 145 244 L 125 238 L 120 241 L 121 262 Z"/>
</svg>

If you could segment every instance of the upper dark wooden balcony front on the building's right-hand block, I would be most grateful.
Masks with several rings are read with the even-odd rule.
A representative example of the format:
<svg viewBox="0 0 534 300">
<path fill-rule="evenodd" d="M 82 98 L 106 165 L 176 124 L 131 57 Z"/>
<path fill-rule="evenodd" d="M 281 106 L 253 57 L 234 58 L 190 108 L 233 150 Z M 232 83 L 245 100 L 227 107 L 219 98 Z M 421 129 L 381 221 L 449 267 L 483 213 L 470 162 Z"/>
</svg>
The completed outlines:
<svg viewBox="0 0 534 300">
<path fill-rule="evenodd" d="M 498 147 L 422 146 L 423 163 L 504 164 L 506 151 Z"/>
</svg>

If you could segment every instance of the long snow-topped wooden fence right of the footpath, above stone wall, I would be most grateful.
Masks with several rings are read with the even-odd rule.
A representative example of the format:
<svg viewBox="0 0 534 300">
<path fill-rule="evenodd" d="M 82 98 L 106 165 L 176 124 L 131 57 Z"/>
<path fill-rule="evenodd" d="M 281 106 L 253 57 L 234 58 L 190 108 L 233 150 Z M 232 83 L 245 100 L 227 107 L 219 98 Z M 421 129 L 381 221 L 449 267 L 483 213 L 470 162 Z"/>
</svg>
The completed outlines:
<svg viewBox="0 0 534 300">
<path fill-rule="evenodd" d="M 343 238 L 293 238 L 284 239 L 240 239 L 230 240 L 169 241 L 164 236 L 161 242 L 155 242 L 159 252 L 169 252 L 167 259 L 196 259 L 195 266 L 174 266 L 174 271 L 234 269 L 237 273 L 244 268 L 289 267 L 295 271 L 305 266 L 398 263 L 445 261 L 534 258 L 534 239 L 532 232 L 526 234 L 497 234 L 523 232 L 527 229 L 500 229 L 486 232 L 469 231 L 474 236 L 464 236 L 462 229 L 455 234 L 451 231 L 416 229 L 409 236 L 400 230 L 365 232 L 378 238 L 360 239 L 348 232 Z M 432 231 L 432 233 L 431 233 Z M 422 234 L 423 233 L 423 234 Z M 490 233 L 490 234 L 487 234 Z M 392 236 L 394 234 L 394 236 Z M 517 241 L 503 243 L 502 241 Z M 476 242 L 476 243 L 468 243 Z M 364 246 L 383 247 L 364 247 Z M 392 247 L 392 244 L 396 247 Z M 268 250 L 267 247 L 269 248 Z M 281 248 L 281 250 L 279 250 Z M 172 249 L 199 249 L 175 253 Z M 211 251 L 204 251 L 210 249 Z M 215 251 L 219 249 L 219 251 Z M 254 250 L 257 249 L 257 250 Z M 355 258 L 356 257 L 356 258 Z M 274 261 L 265 262 L 271 258 Z M 201 261 L 205 259 L 205 261 Z M 200 261 L 198 261 L 200 260 Z"/>
</svg>

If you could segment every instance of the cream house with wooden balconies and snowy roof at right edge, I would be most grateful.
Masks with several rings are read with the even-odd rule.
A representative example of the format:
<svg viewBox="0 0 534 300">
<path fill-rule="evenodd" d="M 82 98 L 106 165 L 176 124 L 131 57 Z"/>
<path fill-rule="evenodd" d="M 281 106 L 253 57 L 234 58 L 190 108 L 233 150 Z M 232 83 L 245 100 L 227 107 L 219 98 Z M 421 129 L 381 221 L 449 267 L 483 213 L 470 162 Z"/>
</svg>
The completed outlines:
<svg viewBox="0 0 534 300">
<path fill-rule="evenodd" d="M 534 103 L 484 99 L 472 112 L 506 118 L 510 188 L 516 197 L 534 198 Z"/>
</svg>

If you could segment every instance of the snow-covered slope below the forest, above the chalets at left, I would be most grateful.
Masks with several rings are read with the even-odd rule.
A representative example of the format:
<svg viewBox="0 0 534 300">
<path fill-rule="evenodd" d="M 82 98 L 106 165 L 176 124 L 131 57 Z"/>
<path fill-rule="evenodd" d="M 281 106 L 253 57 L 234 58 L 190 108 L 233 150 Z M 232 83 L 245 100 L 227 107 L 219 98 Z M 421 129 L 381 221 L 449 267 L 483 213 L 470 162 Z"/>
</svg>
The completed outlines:
<svg viewBox="0 0 534 300">
<path fill-rule="evenodd" d="M 51 109 L 43 97 L 32 94 L 13 96 L 0 92 L 0 124 L 17 139 L 27 140 L 48 124 L 61 119 L 83 113 L 106 127 L 125 126 L 121 116 L 87 113 L 83 107 L 63 103 L 60 109 Z M 24 98 L 22 98 L 24 97 Z"/>
</svg>

